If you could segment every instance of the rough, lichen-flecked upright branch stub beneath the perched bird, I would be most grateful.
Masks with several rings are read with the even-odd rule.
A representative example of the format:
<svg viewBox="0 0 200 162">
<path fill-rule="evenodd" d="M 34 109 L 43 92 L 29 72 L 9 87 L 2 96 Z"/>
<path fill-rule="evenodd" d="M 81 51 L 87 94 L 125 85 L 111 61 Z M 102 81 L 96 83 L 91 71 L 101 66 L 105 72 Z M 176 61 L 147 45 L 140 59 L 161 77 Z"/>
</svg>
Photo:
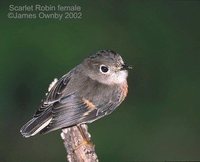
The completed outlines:
<svg viewBox="0 0 200 162">
<path fill-rule="evenodd" d="M 61 138 L 69 162 L 98 162 L 86 124 L 62 129 Z"/>
</svg>

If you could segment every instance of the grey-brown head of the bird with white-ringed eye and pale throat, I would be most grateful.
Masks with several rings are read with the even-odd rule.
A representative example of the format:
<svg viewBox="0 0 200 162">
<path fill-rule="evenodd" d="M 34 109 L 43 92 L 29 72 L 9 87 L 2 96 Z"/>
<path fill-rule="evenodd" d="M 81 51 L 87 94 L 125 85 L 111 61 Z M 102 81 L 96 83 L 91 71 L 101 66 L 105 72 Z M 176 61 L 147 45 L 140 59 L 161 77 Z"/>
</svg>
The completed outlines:
<svg viewBox="0 0 200 162">
<path fill-rule="evenodd" d="M 112 50 L 101 50 L 83 62 L 85 74 L 103 84 L 120 84 L 126 81 L 128 66 L 122 57 Z"/>
</svg>

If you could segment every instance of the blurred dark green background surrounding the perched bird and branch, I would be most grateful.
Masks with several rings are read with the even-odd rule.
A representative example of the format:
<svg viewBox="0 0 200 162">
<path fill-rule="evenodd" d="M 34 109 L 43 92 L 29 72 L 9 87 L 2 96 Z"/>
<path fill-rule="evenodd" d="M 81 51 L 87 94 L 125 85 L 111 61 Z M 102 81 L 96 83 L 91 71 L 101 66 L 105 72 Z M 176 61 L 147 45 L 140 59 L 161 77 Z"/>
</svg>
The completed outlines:
<svg viewBox="0 0 200 162">
<path fill-rule="evenodd" d="M 27 3 L 0 5 L 0 161 L 66 160 L 60 131 L 25 139 L 19 129 L 55 77 L 100 49 L 134 66 L 125 102 L 89 125 L 100 161 L 200 160 L 198 1 L 42 3 L 82 7 L 64 21 L 8 19 L 10 4 Z"/>
</svg>

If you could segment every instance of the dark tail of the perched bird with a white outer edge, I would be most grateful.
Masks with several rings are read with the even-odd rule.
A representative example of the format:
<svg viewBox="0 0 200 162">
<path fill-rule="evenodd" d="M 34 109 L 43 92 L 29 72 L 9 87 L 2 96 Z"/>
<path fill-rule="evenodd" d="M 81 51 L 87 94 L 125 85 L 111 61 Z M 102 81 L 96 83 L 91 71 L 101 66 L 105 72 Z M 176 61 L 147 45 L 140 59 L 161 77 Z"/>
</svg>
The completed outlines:
<svg viewBox="0 0 200 162">
<path fill-rule="evenodd" d="M 28 121 L 21 129 L 21 134 L 28 138 L 30 136 L 34 136 L 43 130 L 52 120 L 50 113 L 44 113 L 41 116 L 34 117 L 30 121 Z"/>
</svg>

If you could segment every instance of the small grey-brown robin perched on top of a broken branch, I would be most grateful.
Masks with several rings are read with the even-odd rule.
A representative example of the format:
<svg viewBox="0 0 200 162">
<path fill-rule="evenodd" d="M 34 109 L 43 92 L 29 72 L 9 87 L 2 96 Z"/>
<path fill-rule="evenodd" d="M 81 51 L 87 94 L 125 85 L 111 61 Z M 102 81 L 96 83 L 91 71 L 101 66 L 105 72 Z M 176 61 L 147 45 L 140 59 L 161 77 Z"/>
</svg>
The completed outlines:
<svg viewBox="0 0 200 162">
<path fill-rule="evenodd" d="M 129 69 L 132 67 L 113 50 L 100 50 L 85 58 L 50 84 L 21 134 L 26 138 L 46 134 L 111 114 L 127 96 Z"/>
</svg>

